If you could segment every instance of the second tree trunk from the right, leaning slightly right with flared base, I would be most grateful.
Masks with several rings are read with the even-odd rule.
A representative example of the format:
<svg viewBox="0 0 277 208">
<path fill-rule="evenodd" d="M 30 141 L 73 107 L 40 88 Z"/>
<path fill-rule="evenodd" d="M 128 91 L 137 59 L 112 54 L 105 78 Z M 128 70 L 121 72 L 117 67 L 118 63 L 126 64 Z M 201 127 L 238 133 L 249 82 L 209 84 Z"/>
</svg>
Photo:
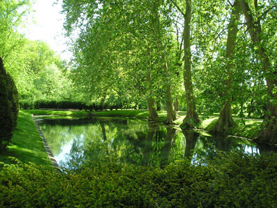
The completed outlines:
<svg viewBox="0 0 277 208">
<path fill-rule="evenodd" d="M 211 132 L 215 133 L 224 133 L 229 128 L 235 125 L 232 117 L 232 106 L 231 106 L 231 84 L 233 82 L 231 69 L 233 67 L 233 51 L 235 48 L 235 40 L 238 34 L 238 20 L 240 19 L 240 11 L 238 9 L 238 1 L 235 0 L 233 4 L 233 9 L 231 13 L 231 20 L 228 28 L 228 37 L 226 44 L 226 76 L 227 80 L 225 80 L 224 85 L 224 93 L 223 93 L 223 108 L 220 110 L 220 118 L 218 119 L 215 127 L 211 130 Z"/>
</svg>

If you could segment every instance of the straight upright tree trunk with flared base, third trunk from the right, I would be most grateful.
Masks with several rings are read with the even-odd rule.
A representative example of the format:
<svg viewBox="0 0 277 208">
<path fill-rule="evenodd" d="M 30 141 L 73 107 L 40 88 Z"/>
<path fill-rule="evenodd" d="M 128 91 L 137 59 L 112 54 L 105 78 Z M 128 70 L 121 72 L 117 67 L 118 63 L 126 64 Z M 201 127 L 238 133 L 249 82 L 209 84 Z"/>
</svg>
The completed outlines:
<svg viewBox="0 0 277 208">
<path fill-rule="evenodd" d="M 200 119 L 196 111 L 195 97 L 193 95 L 193 82 L 191 80 L 191 52 L 190 52 L 190 22 L 191 0 L 186 0 L 186 14 L 184 27 L 184 85 L 186 89 L 187 114 L 181 124 L 182 128 L 194 128 Z"/>
</svg>

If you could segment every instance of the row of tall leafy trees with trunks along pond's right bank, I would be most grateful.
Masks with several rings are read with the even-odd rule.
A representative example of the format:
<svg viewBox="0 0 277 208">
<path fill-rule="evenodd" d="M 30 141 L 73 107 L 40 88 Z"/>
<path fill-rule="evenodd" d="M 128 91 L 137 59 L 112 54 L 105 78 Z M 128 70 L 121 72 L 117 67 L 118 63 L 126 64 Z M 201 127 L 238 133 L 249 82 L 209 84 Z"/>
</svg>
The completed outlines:
<svg viewBox="0 0 277 208">
<path fill-rule="evenodd" d="M 146 100 L 150 120 L 164 99 L 165 123 L 183 99 L 184 128 L 220 112 L 219 133 L 232 114 L 260 116 L 257 140 L 276 141 L 276 1 L 62 3 L 73 79 L 89 97 Z"/>
</svg>

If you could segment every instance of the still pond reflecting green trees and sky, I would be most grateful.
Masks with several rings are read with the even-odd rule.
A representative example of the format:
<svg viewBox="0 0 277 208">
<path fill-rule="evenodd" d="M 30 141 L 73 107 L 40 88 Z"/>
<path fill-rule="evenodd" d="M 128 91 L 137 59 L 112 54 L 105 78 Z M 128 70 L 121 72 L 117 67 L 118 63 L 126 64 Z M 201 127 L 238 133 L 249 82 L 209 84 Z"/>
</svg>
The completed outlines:
<svg viewBox="0 0 277 208">
<path fill-rule="evenodd" d="M 57 164 L 68 169 L 107 155 L 127 164 L 164 166 L 184 157 L 192 161 L 212 157 L 216 149 L 250 154 L 276 152 L 274 146 L 254 144 L 247 139 L 212 137 L 206 132 L 141 119 L 37 118 L 37 123 Z"/>
</svg>

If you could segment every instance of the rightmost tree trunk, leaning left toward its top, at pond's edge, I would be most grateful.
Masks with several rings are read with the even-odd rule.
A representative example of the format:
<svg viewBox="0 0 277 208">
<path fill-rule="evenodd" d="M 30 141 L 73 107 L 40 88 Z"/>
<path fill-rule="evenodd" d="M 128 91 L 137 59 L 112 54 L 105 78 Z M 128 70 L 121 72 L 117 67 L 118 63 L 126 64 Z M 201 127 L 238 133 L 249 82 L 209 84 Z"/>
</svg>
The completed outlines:
<svg viewBox="0 0 277 208">
<path fill-rule="evenodd" d="M 277 99 L 277 92 L 273 92 L 274 87 L 277 86 L 277 70 L 276 67 L 271 67 L 271 62 L 266 53 L 266 48 L 262 44 L 261 36 L 262 27 L 260 19 L 255 21 L 253 18 L 253 12 L 249 7 L 249 4 L 242 0 L 240 1 L 244 17 L 247 21 L 247 27 L 253 44 L 258 48 L 258 55 L 262 64 L 262 71 L 265 74 L 265 80 L 267 82 L 267 112 L 265 119 L 262 122 L 260 135 L 256 138 L 257 141 L 277 143 L 277 105 L 274 103 Z"/>
</svg>

